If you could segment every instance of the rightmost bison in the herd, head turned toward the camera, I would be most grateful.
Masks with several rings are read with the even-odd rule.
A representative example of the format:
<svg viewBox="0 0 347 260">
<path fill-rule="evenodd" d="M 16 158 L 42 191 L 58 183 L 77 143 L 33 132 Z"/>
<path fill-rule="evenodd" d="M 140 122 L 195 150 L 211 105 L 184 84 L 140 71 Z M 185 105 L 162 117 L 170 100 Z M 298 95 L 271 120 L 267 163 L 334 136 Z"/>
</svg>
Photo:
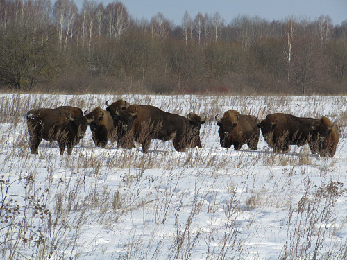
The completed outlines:
<svg viewBox="0 0 347 260">
<path fill-rule="evenodd" d="M 318 153 L 326 157 L 333 157 L 339 143 L 339 130 L 337 125 L 332 124 L 330 119 L 322 116 L 319 120 L 311 124 L 313 130 L 310 148 L 312 153 Z"/>
</svg>

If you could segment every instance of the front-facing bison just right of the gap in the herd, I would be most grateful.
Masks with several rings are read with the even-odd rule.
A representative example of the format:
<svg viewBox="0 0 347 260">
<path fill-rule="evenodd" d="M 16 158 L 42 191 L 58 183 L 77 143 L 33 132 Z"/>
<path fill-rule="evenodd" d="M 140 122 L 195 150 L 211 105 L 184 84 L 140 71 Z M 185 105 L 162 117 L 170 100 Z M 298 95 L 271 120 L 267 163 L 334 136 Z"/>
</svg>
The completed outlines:
<svg viewBox="0 0 347 260">
<path fill-rule="evenodd" d="M 255 123 L 255 116 L 228 110 L 221 119 L 218 115 L 215 119 L 219 125 L 218 133 L 222 147 L 229 148 L 233 145 L 235 150 L 239 150 L 247 144 L 251 150 L 257 150 L 260 129 Z"/>
</svg>

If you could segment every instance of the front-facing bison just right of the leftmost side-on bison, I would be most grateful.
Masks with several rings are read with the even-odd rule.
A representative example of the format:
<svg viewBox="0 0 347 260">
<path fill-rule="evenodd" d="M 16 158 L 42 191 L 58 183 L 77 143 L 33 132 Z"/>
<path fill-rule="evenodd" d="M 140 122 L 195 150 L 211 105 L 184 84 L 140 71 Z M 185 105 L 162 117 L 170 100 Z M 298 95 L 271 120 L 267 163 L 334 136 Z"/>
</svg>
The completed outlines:
<svg viewBox="0 0 347 260">
<path fill-rule="evenodd" d="M 108 139 L 115 134 L 115 125 L 110 113 L 100 107 L 94 108 L 89 114 L 85 114 L 87 119 L 93 119 L 90 123 L 92 139 L 96 146 L 105 147 Z"/>
</svg>

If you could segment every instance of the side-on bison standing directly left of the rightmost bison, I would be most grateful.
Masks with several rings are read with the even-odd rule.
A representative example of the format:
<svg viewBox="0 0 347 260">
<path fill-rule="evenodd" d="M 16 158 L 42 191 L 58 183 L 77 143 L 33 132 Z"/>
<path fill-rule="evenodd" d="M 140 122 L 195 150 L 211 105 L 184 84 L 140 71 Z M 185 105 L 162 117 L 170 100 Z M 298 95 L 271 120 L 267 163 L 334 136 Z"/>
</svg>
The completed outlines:
<svg viewBox="0 0 347 260">
<path fill-rule="evenodd" d="M 283 113 L 268 114 L 262 121 L 256 119 L 264 140 L 275 152 L 287 152 L 289 145 L 303 146 L 309 143 L 314 153 L 311 125 L 316 121 L 318 120 Z"/>
</svg>

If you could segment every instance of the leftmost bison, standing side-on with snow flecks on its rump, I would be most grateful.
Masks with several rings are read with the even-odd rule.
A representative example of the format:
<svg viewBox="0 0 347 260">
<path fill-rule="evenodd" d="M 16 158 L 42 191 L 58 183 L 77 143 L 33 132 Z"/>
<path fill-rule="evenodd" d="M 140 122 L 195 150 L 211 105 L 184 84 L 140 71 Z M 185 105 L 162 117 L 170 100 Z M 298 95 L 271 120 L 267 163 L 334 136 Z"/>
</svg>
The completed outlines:
<svg viewBox="0 0 347 260">
<path fill-rule="evenodd" d="M 78 107 L 38 108 L 26 113 L 28 124 L 29 146 L 32 154 L 38 154 L 38 147 L 42 141 L 58 141 L 60 155 L 71 155 L 72 148 L 85 135 L 88 120 Z"/>
</svg>

